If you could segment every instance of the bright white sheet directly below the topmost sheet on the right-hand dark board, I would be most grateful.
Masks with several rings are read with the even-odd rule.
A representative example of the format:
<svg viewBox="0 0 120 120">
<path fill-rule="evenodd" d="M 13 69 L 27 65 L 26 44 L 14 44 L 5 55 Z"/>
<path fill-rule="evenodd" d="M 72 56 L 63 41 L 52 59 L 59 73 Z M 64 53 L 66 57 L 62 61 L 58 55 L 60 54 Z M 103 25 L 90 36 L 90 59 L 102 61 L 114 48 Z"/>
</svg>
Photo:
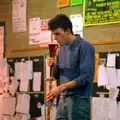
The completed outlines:
<svg viewBox="0 0 120 120">
<path fill-rule="evenodd" d="M 109 86 L 116 87 L 118 84 L 116 68 L 107 68 L 107 74 L 108 74 Z"/>
</svg>

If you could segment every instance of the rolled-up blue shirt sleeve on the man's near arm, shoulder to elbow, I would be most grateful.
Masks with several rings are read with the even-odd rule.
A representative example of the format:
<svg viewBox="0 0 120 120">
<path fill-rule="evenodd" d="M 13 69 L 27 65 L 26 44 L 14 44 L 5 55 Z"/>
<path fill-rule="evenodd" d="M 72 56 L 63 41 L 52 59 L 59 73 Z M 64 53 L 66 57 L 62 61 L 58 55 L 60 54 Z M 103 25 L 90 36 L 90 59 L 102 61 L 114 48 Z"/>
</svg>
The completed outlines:
<svg viewBox="0 0 120 120">
<path fill-rule="evenodd" d="M 82 45 L 79 51 L 80 75 L 75 78 L 78 86 L 89 84 L 94 79 L 95 49 L 91 45 Z"/>
</svg>

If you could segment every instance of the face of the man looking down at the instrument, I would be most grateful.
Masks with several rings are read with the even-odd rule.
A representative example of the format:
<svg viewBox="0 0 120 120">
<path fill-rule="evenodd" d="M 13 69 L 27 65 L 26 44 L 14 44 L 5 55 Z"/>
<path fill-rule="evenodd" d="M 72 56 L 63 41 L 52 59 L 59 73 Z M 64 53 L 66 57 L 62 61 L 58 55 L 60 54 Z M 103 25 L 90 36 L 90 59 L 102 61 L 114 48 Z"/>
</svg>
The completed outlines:
<svg viewBox="0 0 120 120">
<path fill-rule="evenodd" d="M 58 28 L 52 31 L 54 40 L 56 40 L 61 46 L 69 44 L 70 30 L 64 31 L 62 28 Z"/>
</svg>

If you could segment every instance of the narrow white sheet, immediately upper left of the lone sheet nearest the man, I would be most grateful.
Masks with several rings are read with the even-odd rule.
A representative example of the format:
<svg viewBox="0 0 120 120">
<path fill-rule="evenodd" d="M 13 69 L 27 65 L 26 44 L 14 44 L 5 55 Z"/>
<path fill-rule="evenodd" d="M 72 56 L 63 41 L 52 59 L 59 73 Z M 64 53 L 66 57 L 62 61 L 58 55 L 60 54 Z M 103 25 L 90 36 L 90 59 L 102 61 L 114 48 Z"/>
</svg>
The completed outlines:
<svg viewBox="0 0 120 120">
<path fill-rule="evenodd" d="M 27 79 L 31 80 L 33 78 L 33 61 L 26 61 L 26 71 L 27 71 Z"/>
</svg>

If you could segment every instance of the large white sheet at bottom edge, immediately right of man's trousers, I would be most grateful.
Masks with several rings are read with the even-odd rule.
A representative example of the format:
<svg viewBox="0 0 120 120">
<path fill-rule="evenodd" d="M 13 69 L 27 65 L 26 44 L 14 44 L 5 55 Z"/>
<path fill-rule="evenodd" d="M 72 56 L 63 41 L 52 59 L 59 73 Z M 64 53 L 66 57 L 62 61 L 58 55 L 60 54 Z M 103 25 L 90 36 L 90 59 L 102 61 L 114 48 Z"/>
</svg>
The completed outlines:
<svg viewBox="0 0 120 120">
<path fill-rule="evenodd" d="M 92 120 L 108 120 L 109 98 L 92 98 Z"/>
</svg>

